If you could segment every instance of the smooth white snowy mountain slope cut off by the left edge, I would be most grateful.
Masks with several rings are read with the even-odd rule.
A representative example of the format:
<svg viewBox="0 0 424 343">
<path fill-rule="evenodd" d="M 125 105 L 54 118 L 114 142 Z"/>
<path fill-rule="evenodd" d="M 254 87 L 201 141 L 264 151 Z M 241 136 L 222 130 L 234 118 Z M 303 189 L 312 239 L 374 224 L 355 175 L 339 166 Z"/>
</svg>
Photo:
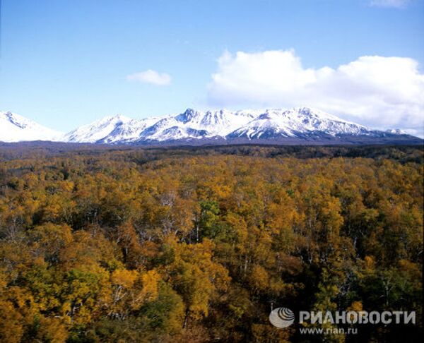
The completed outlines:
<svg viewBox="0 0 424 343">
<path fill-rule="evenodd" d="M 25 140 L 60 141 L 63 136 L 64 133 L 46 128 L 18 114 L 0 111 L 1 142 L 22 142 Z"/>
</svg>

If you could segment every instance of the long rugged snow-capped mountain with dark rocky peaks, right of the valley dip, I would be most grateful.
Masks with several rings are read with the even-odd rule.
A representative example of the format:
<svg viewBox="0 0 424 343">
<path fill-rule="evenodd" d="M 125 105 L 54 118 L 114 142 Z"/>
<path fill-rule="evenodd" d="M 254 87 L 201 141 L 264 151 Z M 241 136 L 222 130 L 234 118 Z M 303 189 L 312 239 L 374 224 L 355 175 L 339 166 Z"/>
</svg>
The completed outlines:
<svg viewBox="0 0 424 343">
<path fill-rule="evenodd" d="M 346 136 L 384 137 L 399 131 L 375 131 L 318 109 L 265 109 L 197 111 L 177 115 L 131 120 L 106 117 L 81 126 L 66 135 L 80 143 L 184 143 L 189 141 L 331 140 Z"/>
</svg>

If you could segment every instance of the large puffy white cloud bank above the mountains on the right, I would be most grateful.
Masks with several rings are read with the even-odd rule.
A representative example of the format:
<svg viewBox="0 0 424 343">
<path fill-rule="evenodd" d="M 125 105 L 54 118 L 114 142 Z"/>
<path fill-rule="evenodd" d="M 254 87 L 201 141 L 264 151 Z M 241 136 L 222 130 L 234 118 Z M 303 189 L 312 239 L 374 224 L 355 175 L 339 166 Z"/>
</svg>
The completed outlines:
<svg viewBox="0 0 424 343">
<path fill-rule="evenodd" d="M 317 107 L 375 128 L 423 135 L 424 74 L 406 57 L 362 56 L 337 68 L 305 68 L 293 50 L 225 52 L 208 102 L 228 107 Z"/>
</svg>

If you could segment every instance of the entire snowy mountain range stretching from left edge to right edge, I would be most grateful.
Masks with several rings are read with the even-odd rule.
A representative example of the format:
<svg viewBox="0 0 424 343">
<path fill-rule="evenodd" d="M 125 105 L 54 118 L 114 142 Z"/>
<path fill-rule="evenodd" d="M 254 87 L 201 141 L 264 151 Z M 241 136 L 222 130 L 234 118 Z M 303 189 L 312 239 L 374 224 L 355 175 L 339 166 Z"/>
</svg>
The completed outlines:
<svg viewBox="0 0 424 343">
<path fill-rule="evenodd" d="M 334 144 L 423 143 L 403 131 L 379 131 L 309 107 L 197 111 L 146 119 L 107 116 L 69 133 L 0 112 L 0 141 L 49 140 L 97 144 Z"/>
</svg>

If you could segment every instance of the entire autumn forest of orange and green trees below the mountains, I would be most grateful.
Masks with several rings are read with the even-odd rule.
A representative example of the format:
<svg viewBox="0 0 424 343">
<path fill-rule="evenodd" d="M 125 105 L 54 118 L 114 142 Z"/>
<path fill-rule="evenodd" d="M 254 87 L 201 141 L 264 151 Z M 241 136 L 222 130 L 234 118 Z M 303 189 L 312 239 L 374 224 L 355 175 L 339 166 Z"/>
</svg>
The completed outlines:
<svg viewBox="0 0 424 343">
<path fill-rule="evenodd" d="M 0 342 L 422 335 L 421 147 L 8 145 L 0 159 Z M 417 324 L 306 336 L 269 323 L 278 306 Z"/>
</svg>

